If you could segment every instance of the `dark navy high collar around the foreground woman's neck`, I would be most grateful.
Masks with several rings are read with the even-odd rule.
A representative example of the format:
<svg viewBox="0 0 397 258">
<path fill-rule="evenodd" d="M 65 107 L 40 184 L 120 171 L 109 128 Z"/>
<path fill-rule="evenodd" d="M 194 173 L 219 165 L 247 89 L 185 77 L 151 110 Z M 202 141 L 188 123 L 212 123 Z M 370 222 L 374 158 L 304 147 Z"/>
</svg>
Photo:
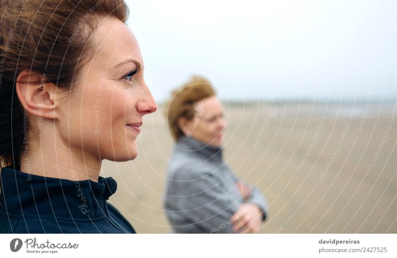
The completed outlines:
<svg viewBox="0 0 397 258">
<path fill-rule="evenodd" d="M 117 190 L 116 181 L 98 177 L 72 181 L 1 170 L 0 210 L 9 214 L 52 215 L 59 218 L 97 218 L 107 215 L 106 200 Z"/>
</svg>

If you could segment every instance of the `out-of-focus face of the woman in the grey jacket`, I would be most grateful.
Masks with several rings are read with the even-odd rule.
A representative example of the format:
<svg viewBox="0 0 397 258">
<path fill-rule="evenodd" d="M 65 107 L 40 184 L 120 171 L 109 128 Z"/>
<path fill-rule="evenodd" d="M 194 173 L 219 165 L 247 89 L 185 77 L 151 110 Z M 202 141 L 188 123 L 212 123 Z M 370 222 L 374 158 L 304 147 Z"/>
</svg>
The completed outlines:
<svg viewBox="0 0 397 258">
<path fill-rule="evenodd" d="M 195 118 L 190 122 L 192 137 L 212 146 L 221 146 L 226 124 L 219 99 L 214 96 L 200 100 L 196 102 L 195 110 Z"/>
</svg>

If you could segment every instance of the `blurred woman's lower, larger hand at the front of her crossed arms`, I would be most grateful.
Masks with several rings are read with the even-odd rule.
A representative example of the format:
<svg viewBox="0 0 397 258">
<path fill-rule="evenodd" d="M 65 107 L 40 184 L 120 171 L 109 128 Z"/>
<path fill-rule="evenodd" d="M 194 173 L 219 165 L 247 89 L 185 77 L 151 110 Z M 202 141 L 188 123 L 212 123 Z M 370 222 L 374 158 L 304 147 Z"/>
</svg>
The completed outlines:
<svg viewBox="0 0 397 258">
<path fill-rule="evenodd" d="M 231 218 L 236 233 L 256 233 L 262 223 L 262 210 L 255 204 L 243 203 Z"/>
</svg>

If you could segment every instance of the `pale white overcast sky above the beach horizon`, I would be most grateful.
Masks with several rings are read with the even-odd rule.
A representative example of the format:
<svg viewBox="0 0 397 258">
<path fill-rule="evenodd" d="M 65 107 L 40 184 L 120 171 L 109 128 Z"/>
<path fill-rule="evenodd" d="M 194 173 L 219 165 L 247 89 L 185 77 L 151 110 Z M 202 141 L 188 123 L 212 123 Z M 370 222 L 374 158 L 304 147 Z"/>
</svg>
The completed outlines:
<svg viewBox="0 0 397 258">
<path fill-rule="evenodd" d="M 192 74 L 223 100 L 397 98 L 396 0 L 126 1 L 156 101 Z"/>
</svg>

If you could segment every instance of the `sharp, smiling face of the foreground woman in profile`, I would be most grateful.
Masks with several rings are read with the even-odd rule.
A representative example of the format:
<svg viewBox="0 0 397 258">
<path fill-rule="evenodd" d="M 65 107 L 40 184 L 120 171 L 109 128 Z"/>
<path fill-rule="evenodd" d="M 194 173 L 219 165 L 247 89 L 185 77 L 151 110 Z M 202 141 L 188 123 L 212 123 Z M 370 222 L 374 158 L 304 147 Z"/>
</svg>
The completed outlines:
<svg viewBox="0 0 397 258">
<path fill-rule="evenodd" d="M 105 18 L 93 36 L 94 56 L 79 70 L 58 128 L 71 148 L 83 148 L 85 159 L 132 160 L 142 116 L 157 109 L 143 79 L 140 49 L 116 19 Z"/>
</svg>

